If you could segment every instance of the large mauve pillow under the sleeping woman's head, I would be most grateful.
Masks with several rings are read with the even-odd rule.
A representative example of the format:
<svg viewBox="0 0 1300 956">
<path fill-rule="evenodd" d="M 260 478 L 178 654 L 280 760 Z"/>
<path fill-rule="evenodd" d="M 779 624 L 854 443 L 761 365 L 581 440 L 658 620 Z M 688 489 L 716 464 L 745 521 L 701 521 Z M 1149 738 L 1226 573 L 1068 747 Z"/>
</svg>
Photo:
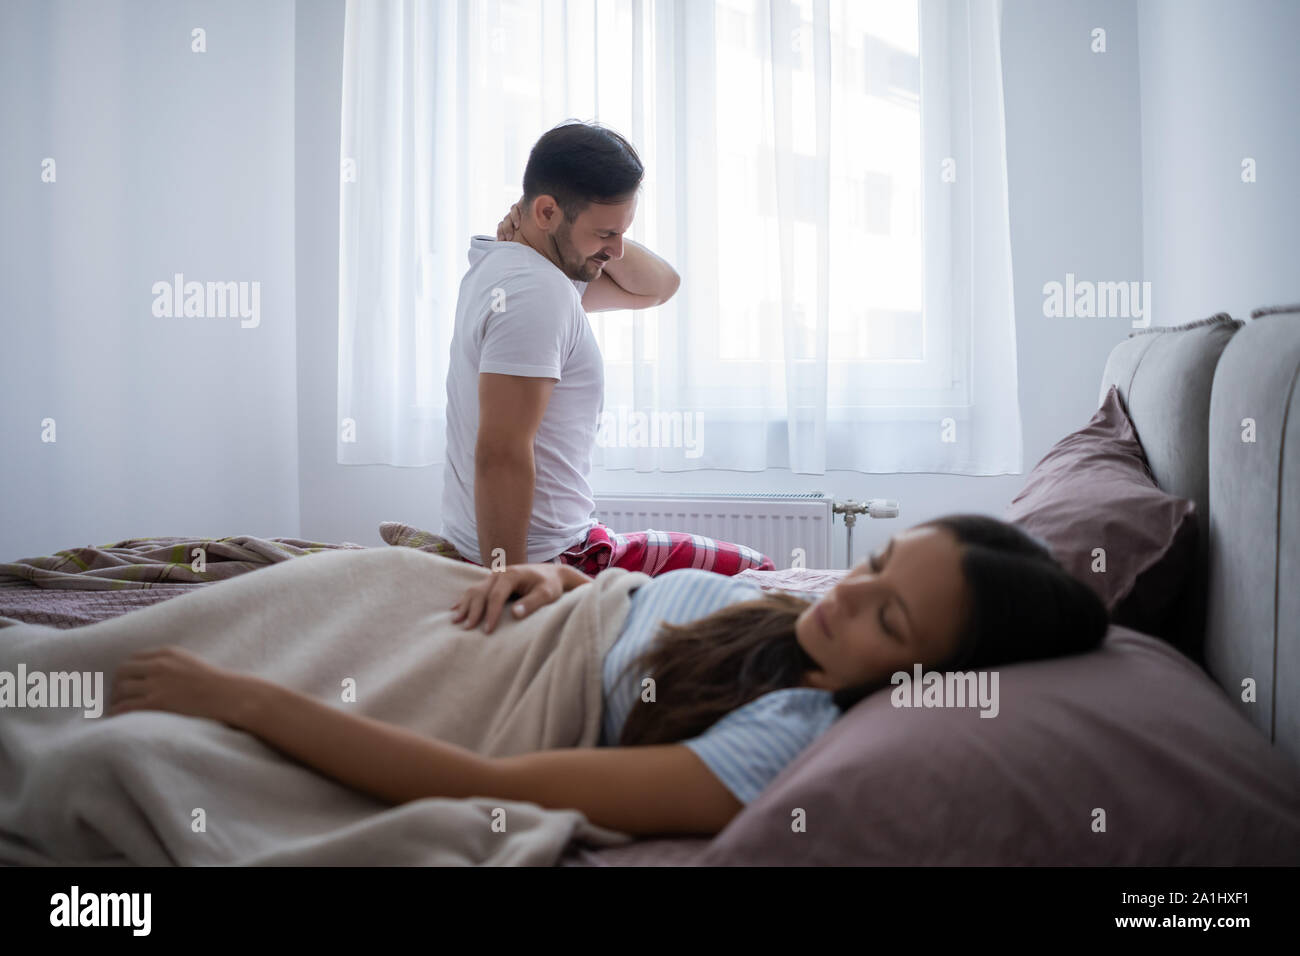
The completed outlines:
<svg viewBox="0 0 1300 956">
<path fill-rule="evenodd" d="M 1098 650 L 998 675 L 993 718 L 862 700 L 693 862 L 1300 860 L 1300 770 L 1165 641 L 1112 626 Z"/>
</svg>

